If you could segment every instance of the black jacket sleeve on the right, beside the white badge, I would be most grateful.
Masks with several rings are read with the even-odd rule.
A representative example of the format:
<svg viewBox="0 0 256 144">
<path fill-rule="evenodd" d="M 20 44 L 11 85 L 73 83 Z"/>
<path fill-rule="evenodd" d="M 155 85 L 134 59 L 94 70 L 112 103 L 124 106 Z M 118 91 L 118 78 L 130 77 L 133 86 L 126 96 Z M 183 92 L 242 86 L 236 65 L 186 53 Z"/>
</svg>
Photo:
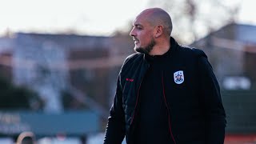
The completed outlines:
<svg viewBox="0 0 256 144">
<path fill-rule="evenodd" d="M 223 144 L 225 138 L 226 114 L 222 105 L 217 78 L 205 54 L 199 57 L 198 67 L 200 74 L 201 101 L 206 118 L 206 143 Z"/>
</svg>

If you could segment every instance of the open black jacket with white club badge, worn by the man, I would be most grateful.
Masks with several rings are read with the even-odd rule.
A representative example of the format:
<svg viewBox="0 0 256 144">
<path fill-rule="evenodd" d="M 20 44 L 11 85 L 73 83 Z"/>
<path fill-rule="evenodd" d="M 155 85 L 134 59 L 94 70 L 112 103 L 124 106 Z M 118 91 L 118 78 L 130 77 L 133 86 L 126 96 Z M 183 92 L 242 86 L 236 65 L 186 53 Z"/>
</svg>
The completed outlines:
<svg viewBox="0 0 256 144">
<path fill-rule="evenodd" d="M 170 114 L 170 137 L 174 143 L 221 144 L 225 137 L 226 114 L 217 79 L 202 50 L 180 46 L 170 38 L 168 65 L 162 70 L 162 88 Z M 126 136 L 133 143 L 134 115 L 139 89 L 150 56 L 136 53 L 126 58 L 118 75 L 117 90 L 106 126 L 105 144 L 121 144 Z M 175 78 L 182 71 L 182 78 Z M 174 80 L 180 80 L 174 82 Z"/>
</svg>

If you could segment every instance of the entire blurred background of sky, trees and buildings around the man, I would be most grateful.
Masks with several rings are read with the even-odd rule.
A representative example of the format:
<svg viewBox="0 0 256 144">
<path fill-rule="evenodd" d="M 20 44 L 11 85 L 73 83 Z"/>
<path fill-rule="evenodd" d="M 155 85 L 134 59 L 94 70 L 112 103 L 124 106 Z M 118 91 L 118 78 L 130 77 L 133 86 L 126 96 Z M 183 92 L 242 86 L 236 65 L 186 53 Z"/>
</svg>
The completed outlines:
<svg viewBox="0 0 256 144">
<path fill-rule="evenodd" d="M 132 22 L 148 7 L 168 11 L 172 36 L 208 55 L 226 109 L 225 143 L 256 143 L 255 6 L 253 0 L 1 0 L 0 143 L 13 144 L 26 132 L 39 144 L 102 143 L 118 72 L 134 52 Z"/>
</svg>

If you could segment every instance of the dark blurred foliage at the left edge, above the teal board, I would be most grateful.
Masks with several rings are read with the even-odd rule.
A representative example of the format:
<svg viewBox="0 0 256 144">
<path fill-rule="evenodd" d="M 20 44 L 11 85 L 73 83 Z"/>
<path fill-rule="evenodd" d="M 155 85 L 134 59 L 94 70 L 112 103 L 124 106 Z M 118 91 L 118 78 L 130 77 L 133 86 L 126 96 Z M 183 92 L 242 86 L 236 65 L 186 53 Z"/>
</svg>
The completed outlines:
<svg viewBox="0 0 256 144">
<path fill-rule="evenodd" d="M 14 86 L 6 78 L 0 77 L 1 110 L 41 110 L 42 107 L 42 99 L 33 90 Z"/>
</svg>

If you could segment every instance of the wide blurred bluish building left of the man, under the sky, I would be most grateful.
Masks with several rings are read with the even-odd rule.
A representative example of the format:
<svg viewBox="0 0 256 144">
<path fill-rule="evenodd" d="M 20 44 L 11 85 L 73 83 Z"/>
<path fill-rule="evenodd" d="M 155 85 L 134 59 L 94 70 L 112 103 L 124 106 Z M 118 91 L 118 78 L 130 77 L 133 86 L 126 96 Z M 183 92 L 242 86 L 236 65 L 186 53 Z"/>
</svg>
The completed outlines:
<svg viewBox="0 0 256 144">
<path fill-rule="evenodd" d="M 0 39 L 0 69 L 15 84 L 36 90 L 45 110 L 60 112 L 62 93 L 77 103 L 106 114 L 115 90 L 118 70 L 133 50 L 130 38 L 74 34 L 13 34 Z"/>
</svg>

